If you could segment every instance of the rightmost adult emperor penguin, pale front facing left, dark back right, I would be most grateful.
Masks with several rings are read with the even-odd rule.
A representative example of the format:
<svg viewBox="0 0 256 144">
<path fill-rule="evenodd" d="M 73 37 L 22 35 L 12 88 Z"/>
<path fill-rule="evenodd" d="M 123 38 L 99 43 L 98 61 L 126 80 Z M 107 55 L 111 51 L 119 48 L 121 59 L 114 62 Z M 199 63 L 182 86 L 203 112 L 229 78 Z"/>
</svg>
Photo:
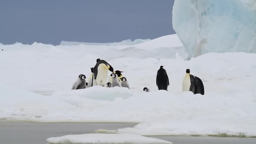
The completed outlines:
<svg viewBox="0 0 256 144">
<path fill-rule="evenodd" d="M 182 82 L 182 92 L 186 91 L 191 91 L 194 94 L 204 95 L 202 80 L 194 75 L 191 75 L 190 69 L 186 69 L 186 74 Z"/>
</svg>

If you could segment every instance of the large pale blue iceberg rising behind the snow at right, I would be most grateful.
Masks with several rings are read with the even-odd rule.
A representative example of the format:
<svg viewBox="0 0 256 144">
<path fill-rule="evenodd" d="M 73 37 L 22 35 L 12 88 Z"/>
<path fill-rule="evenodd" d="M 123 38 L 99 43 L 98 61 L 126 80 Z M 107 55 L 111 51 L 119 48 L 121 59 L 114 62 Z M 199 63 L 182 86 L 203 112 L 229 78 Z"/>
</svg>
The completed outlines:
<svg viewBox="0 0 256 144">
<path fill-rule="evenodd" d="M 190 58 L 256 52 L 256 0 L 175 0 L 172 20 Z"/>
</svg>

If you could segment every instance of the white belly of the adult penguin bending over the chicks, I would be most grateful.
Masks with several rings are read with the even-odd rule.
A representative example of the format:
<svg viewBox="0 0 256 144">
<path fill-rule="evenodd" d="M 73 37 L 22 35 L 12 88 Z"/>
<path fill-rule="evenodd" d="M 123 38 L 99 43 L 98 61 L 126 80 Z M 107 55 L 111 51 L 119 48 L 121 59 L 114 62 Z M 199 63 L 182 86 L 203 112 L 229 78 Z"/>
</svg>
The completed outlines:
<svg viewBox="0 0 256 144">
<path fill-rule="evenodd" d="M 105 64 L 98 65 L 98 74 L 95 85 L 105 86 L 108 80 L 108 67 Z M 93 84 L 94 85 L 94 84 Z"/>
</svg>

